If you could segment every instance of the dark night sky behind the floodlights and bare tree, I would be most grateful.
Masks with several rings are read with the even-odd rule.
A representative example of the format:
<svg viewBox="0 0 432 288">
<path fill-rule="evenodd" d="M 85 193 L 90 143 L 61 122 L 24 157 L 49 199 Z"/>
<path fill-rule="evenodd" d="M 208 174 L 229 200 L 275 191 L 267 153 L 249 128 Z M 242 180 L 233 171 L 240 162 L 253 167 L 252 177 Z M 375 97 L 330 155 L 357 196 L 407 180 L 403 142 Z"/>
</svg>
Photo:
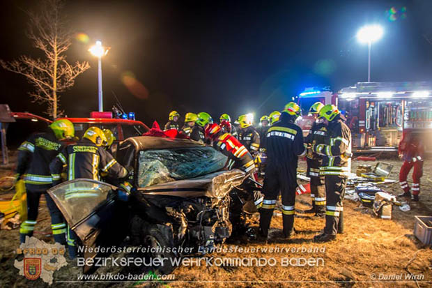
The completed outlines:
<svg viewBox="0 0 432 288">
<path fill-rule="evenodd" d="M 114 91 L 148 125 L 164 123 L 171 109 L 214 119 L 225 112 L 259 117 L 282 109 L 306 86 L 337 91 L 364 82 L 367 46 L 355 33 L 367 23 L 385 26 L 372 46 L 372 81 L 431 79 L 432 1 L 293 2 L 67 1 L 70 25 L 89 38 L 73 40 L 68 59 L 91 68 L 62 94 L 61 107 L 68 116 L 98 109 L 97 61 L 87 51 L 95 40 L 111 47 L 102 60 L 105 110 Z M 38 56 L 23 12 L 37 3 L 1 2 L 0 59 Z M 131 82 L 141 89 L 131 90 Z M 31 86 L 24 77 L 0 68 L 0 86 L 0 102 L 13 111 L 43 114 L 45 106 L 26 96 Z"/>
</svg>

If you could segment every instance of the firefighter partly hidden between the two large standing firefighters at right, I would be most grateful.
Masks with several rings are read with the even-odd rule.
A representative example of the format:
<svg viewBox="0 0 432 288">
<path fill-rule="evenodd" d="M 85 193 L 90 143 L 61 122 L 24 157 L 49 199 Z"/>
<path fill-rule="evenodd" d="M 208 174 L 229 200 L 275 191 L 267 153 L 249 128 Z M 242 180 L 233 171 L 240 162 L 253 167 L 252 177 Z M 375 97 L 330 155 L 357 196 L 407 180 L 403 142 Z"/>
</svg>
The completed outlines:
<svg viewBox="0 0 432 288">
<path fill-rule="evenodd" d="M 309 114 L 314 116 L 309 135 L 304 139 L 307 145 L 306 162 L 307 176 L 311 179 L 311 199 L 312 208 L 305 211 L 306 213 L 315 213 L 317 217 L 325 217 L 325 179 L 320 176 L 320 167 L 323 164 L 323 156 L 318 155 L 311 150 L 311 147 L 316 144 L 325 143 L 325 135 L 327 128 L 321 118 L 318 118 L 319 112 L 324 105 L 321 102 L 314 103 L 309 109 Z"/>
</svg>

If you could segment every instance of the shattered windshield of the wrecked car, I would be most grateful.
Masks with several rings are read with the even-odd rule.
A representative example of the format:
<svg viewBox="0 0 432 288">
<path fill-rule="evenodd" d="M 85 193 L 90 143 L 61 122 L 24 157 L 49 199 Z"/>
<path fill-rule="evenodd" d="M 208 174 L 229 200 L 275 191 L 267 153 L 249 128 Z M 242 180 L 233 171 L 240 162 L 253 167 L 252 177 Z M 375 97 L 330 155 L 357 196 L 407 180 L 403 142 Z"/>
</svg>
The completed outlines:
<svg viewBox="0 0 432 288">
<path fill-rule="evenodd" d="M 138 185 L 191 179 L 222 169 L 226 156 L 212 147 L 147 150 L 139 152 Z"/>
</svg>

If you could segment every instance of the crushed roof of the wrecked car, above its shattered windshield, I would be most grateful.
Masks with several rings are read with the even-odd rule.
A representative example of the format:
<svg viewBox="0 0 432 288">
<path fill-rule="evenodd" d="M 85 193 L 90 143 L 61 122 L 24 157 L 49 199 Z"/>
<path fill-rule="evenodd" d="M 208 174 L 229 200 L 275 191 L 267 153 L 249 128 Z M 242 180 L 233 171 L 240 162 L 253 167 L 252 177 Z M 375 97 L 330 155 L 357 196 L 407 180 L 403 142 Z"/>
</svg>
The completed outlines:
<svg viewBox="0 0 432 288">
<path fill-rule="evenodd" d="M 179 147 L 202 147 L 205 146 L 199 142 L 190 139 L 178 139 L 178 138 L 164 138 L 164 137 L 153 137 L 153 136 L 138 136 L 130 137 L 121 142 L 121 146 L 125 146 L 128 143 L 135 146 L 135 150 L 146 150 L 146 149 L 169 149 Z"/>
</svg>

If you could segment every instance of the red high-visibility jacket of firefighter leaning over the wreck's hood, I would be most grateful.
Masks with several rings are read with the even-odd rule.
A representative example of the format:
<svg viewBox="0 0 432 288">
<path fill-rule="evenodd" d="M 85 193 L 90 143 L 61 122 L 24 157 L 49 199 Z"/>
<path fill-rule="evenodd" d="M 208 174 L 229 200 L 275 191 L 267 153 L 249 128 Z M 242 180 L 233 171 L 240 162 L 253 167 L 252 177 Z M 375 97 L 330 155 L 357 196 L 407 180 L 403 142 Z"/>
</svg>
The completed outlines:
<svg viewBox="0 0 432 288">
<path fill-rule="evenodd" d="M 228 169 L 240 169 L 246 173 L 255 171 L 254 158 L 238 139 L 229 133 L 224 133 L 213 142 L 213 147 L 228 157 Z"/>
</svg>

